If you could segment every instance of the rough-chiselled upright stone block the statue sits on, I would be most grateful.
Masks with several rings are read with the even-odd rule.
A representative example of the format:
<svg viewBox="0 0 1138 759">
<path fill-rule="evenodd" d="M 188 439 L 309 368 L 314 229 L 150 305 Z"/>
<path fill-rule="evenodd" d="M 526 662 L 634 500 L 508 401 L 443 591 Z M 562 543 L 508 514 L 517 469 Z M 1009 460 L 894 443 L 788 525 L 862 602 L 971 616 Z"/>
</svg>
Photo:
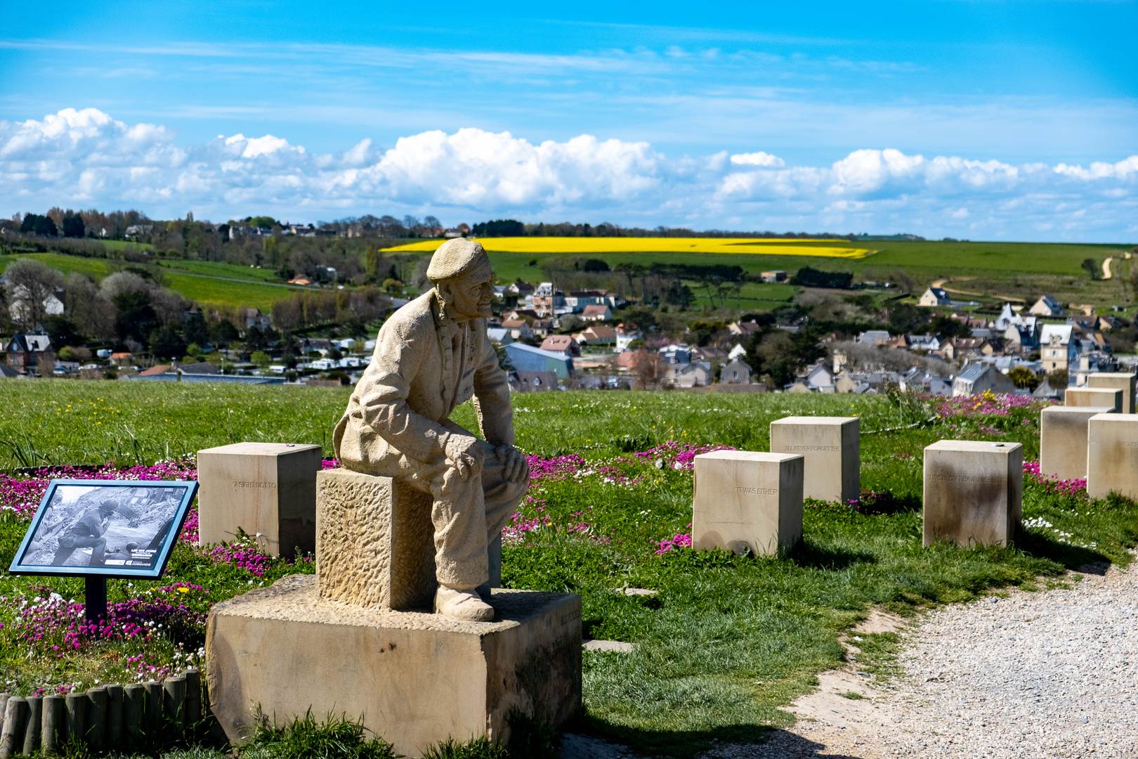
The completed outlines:
<svg viewBox="0 0 1138 759">
<path fill-rule="evenodd" d="M 431 497 L 390 477 L 328 469 L 316 476 L 320 597 L 429 610 L 435 597 Z"/>
</svg>

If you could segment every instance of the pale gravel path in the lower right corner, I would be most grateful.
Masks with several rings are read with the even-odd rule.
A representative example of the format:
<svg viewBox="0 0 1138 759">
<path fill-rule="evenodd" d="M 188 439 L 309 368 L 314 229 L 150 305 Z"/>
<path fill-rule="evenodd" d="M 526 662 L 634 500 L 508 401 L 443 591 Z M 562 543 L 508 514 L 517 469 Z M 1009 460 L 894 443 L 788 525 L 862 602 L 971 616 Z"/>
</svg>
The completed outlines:
<svg viewBox="0 0 1138 759">
<path fill-rule="evenodd" d="M 826 673 L 793 728 L 707 756 L 1138 757 L 1138 567 L 1071 586 L 933 611 L 905 633 L 891 688 L 856 666 Z M 838 695 L 849 690 L 868 698 Z"/>
</svg>

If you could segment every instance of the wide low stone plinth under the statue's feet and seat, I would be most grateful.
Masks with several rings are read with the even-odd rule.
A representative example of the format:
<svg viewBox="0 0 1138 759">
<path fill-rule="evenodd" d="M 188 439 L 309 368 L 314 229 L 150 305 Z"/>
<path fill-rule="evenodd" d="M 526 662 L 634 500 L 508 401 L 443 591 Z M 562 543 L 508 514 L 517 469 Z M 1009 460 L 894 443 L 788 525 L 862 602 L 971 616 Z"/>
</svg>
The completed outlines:
<svg viewBox="0 0 1138 759">
<path fill-rule="evenodd" d="M 311 575 L 218 603 L 206 632 L 209 703 L 225 734 L 362 716 L 405 756 L 453 737 L 509 740 L 512 707 L 551 724 L 580 706 L 580 596 L 495 589 L 495 621 L 322 601 Z"/>
</svg>

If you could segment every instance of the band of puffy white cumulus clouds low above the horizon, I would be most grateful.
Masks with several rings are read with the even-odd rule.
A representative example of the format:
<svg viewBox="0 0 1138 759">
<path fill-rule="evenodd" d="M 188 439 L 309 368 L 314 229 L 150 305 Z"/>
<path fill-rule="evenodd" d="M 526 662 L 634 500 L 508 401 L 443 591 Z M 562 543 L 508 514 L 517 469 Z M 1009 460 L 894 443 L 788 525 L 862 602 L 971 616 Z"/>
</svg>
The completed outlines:
<svg viewBox="0 0 1138 759">
<path fill-rule="evenodd" d="M 468 127 L 314 156 L 273 134 L 179 146 L 165 126 L 94 108 L 0 122 L 0 212 L 55 205 L 216 221 L 431 213 L 448 223 L 493 215 L 1123 242 L 1138 217 L 1138 155 L 1083 168 L 867 148 L 789 166 L 760 149 L 668 157 L 643 141 L 530 142 Z"/>
</svg>

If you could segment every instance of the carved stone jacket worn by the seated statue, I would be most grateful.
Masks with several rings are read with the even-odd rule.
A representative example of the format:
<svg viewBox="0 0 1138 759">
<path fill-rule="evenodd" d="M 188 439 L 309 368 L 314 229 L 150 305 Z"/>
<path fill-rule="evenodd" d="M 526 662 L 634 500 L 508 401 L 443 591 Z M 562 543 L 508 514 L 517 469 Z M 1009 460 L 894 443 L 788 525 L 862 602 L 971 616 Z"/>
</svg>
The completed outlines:
<svg viewBox="0 0 1138 759">
<path fill-rule="evenodd" d="M 379 330 L 372 362 L 336 426 L 336 455 L 348 469 L 435 479 L 448 468 L 450 420 L 475 398 L 486 442 L 513 444 L 510 386 L 486 335 L 486 320 L 456 322 L 431 289 L 396 311 Z"/>
</svg>

